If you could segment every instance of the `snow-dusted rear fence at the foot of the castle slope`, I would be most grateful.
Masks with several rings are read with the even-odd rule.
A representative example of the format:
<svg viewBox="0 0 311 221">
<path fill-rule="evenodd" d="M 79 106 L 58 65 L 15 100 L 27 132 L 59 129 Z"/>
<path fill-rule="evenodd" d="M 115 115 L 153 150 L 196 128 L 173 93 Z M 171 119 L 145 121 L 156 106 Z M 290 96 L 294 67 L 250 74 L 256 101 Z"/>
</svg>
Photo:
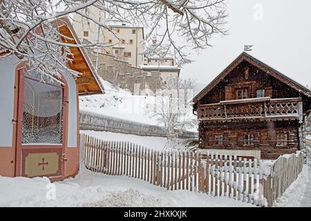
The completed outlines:
<svg viewBox="0 0 311 221">
<path fill-rule="evenodd" d="M 167 136 L 161 126 L 133 122 L 88 111 L 80 111 L 80 129 L 154 137 Z M 193 139 L 198 137 L 198 133 L 185 131 L 180 133 L 179 137 Z"/>
</svg>

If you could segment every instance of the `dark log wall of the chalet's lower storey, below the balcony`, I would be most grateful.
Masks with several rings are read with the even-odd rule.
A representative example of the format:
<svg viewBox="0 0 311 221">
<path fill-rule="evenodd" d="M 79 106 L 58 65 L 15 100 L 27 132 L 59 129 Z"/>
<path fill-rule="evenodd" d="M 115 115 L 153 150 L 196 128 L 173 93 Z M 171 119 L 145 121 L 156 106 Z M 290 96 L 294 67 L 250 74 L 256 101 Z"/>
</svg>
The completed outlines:
<svg viewBox="0 0 311 221">
<path fill-rule="evenodd" d="M 279 155 L 299 150 L 298 122 L 227 122 L 199 124 L 200 148 L 258 149 L 262 159 L 276 159 Z M 254 126 L 256 125 L 256 126 Z M 276 133 L 288 134 L 288 146 L 276 146 Z M 254 135 L 254 145 L 244 145 L 245 133 Z M 223 135 L 223 145 L 215 144 L 215 135 Z"/>
</svg>

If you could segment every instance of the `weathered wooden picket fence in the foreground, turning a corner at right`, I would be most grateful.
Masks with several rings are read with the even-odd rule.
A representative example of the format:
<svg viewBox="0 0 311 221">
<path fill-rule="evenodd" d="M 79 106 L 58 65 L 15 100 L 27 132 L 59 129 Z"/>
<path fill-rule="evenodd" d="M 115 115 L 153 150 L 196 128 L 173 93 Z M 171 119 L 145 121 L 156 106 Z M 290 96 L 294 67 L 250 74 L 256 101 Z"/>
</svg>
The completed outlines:
<svg viewBox="0 0 311 221">
<path fill-rule="evenodd" d="M 225 196 L 258 206 L 272 206 L 296 180 L 303 164 L 301 153 L 290 155 L 279 158 L 272 167 L 272 174 L 265 174 L 265 166 L 256 159 L 217 153 L 203 157 L 200 151 L 155 151 L 131 142 L 83 136 L 83 160 L 91 171 L 126 175 L 168 190 Z"/>
</svg>

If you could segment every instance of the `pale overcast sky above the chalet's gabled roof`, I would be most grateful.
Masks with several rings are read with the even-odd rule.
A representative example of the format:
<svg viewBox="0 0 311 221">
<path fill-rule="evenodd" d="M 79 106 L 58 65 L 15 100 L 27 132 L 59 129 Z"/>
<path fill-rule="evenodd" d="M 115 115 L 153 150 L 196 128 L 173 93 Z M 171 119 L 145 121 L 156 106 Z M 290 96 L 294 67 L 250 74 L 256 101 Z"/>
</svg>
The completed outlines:
<svg viewBox="0 0 311 221">
<path fill-rule="evenodd" d="M 262 17 L 261 17 L 262 8 Z M 227 18 L 230 35 L 211 39 L 213 48 L 182 68 L 180 77 L 209 84 L 243 52 L 288 75 L 304 86 L 311 86 L 311 1 L 310 0 L 232 0 Z"/>
</svg>

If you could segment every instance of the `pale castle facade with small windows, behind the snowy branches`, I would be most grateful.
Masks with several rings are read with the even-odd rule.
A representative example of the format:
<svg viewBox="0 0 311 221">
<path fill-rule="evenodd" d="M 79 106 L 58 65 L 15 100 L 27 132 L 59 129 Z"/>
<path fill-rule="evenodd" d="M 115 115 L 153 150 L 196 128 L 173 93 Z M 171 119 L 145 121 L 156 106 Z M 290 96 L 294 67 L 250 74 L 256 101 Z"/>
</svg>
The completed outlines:
<svg viewBox="0 0 311 221">
<path fill-rule="evenodd" d="M 75 13 L 73 28 L 81 41 L 86 39 L 92 43 L 98 41 L 105 44 L 105 47 L 100 48 L 100 52 L 128 61 L 130 66 L 140 66 L 144 63 L 144 28 L 106 21 L 105 13 L 93 6 L 88 7 L 87 13 L 111 29 L 99 28 L 95 22 Z"/>
</svg>

